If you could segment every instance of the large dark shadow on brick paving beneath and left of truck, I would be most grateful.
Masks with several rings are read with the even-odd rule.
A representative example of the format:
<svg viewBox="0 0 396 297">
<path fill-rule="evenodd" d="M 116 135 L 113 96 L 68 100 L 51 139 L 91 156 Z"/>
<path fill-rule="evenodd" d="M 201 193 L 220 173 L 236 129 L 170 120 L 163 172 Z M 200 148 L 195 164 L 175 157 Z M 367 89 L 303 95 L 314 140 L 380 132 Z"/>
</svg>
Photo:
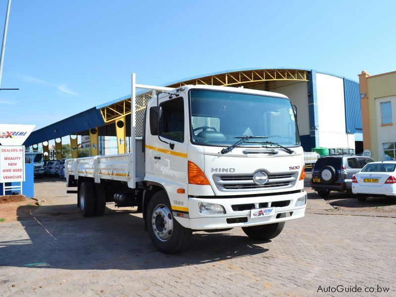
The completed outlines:
<svg viewBox="0 0 396 297">
<path fill-rule="evenodd" d="M 64 205 L 76 209 L 76 205 Z M 194 233 L 190 248 L 176 255 L 158 252 L 151 244 L 144 221 L 131 211 L 106 210 L 99 217 L 58 216 L 51 207 L 47 215 L 25 215 L 18 208 L 22 227 L 3 224 L 0 239 L 0 266 L 58 269 L 158 269 L 181 267 L 264 253 L 247 236 L 221 233 Z M 75 213 L 74 213 L 75 214 Z M 5 231 L 5 232 L 4 232 Z M 234 233 L 235 234 L 235 233 Z M 2 236 L 4 238 L 4 236 Z M 9 240 L 11 239 L 11 240 Z M 259 244 L 262 244 L 261 242 Z M 220 262 L 219 265 L 222 263 Z M 213 264 L 218 265 L 218 264 Z"/>
</svg>

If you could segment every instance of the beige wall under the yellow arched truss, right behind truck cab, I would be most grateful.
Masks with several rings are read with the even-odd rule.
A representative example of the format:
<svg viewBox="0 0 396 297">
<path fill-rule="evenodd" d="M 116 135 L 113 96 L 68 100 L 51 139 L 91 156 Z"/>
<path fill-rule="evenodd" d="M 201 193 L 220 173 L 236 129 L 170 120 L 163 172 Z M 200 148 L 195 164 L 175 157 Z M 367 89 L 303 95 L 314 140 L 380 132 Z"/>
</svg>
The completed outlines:
<svg viewBox="0 0 396 297">
<path fill-rule="evenodd" d="M 297 125 L 300 135 L 309 135 L 308 84 L 307 82 L 276 81 L 271 84 L 271 92 L 289 97 L 297 106 Z"/>
</svg>

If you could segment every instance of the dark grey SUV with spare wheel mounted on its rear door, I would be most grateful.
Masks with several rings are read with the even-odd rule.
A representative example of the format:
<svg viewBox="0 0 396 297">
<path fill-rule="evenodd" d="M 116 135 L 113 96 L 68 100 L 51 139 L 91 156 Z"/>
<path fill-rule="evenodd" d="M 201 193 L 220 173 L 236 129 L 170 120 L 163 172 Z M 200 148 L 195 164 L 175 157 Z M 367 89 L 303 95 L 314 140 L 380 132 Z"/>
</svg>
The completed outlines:
<svg viewBox="0 0 396 297">
<path fill-rule="evenodd" d="M 369 157 L 359 155 L 334 155 L 319 158 L 312 171 L 311 186 L 322 198 L 331 191 L 352 193 L 352 176 L 367 163 Z"/>
</svg>

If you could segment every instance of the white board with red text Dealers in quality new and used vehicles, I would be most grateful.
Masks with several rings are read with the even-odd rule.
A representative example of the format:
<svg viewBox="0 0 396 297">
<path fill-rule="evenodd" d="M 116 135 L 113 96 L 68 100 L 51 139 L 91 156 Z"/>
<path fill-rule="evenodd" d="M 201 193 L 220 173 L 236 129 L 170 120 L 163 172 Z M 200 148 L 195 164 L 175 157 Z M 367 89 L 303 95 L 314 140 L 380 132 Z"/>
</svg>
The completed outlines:
<svg viewBox="0 0 396 297">
<path fill-rule="evenodd" d="M 25 181 L 25 147 L 0 146 L 0 183 Z"/>
</svg>

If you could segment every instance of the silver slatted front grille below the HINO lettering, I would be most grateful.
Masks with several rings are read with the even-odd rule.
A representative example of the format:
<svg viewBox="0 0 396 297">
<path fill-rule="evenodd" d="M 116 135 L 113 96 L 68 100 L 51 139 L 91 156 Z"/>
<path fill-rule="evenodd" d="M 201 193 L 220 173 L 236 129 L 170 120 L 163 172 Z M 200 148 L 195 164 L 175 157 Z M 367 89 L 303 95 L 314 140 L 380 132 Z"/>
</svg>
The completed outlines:
<svg viewBox="0 0 396 297">
<path fill-rule="evenodd" d="M 263 189 L 291 188 L 297 181 L 298 172 L 269 173 L 268 182 L 265 185 L 256 185 L 253 182 L 253 174 L 227 174 L 213 175 L 217 189 L 224 192 L 231 191 L 258 191 Z"/>
</svg>

